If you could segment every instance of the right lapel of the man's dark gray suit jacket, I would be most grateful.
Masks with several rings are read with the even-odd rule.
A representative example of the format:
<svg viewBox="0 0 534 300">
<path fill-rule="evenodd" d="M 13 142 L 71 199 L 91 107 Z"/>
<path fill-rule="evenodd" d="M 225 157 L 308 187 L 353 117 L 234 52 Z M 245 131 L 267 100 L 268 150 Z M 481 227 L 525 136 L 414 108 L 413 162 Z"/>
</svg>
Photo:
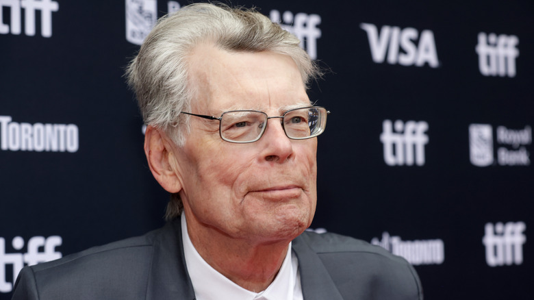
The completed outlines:
<svg viewBox="0 0 534 300">
<path fill-rule="evenodd" d="M 293 251 L 298 258 L 298 271 L 304 300 L 342 300 L 338 288 L 332 281 L 325 265 L 317 253 L 307 245 L 305 234 L 292 242 Z"/>
</svg>

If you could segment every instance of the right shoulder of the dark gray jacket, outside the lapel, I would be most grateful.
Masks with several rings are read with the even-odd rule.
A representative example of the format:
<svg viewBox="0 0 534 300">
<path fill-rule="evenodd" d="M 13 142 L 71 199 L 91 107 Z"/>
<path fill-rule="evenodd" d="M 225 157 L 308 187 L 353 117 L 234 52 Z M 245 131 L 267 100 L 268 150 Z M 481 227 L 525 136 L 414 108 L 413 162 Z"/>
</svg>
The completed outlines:
<svg viewBox="0 0 534 300">
<path fill-rule="evenodd" d="M 305 232 L 294 242 L 316 253 L 344 299 L 355 295 L 360 299 L 422 299 L 414 267 L 382 247 L 340 234 L 315 232 Z"/>
</svg>

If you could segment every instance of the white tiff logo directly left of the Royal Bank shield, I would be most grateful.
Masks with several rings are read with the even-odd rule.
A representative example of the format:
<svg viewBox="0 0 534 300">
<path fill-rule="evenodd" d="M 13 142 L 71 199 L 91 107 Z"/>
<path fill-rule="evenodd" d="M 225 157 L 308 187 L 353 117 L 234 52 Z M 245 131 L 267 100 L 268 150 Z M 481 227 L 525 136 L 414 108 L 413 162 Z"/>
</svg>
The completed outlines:
<svg viewBox="0 0 534 300">
<path fill-rule="evenodd" d="M 384 162 L 388 166 L 418 166 L 424 165 L 424 145 L 429 142 L 429 136 L 424 134 L 429 124 L 424 121 L 384 120 L 380 141 L 384 145 Z"/>
</svg>

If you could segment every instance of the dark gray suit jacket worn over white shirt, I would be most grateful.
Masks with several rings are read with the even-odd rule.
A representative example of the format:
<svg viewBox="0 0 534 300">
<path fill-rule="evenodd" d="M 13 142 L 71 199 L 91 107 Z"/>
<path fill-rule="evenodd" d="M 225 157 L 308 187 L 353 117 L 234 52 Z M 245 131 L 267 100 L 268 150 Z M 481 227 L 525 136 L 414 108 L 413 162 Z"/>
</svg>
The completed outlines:
<svg viewBox="0 0 534 300">
<path fill-rule="evenodd" d="M 305 300 L 422 299 L 414 268 L 367 242 L 305 232 L 293 241 Z M 209 284 L 209 283 L 207 283 Z M 13 300 L 194 299 L 180 221 L 23 268 Z"/>
</svg>

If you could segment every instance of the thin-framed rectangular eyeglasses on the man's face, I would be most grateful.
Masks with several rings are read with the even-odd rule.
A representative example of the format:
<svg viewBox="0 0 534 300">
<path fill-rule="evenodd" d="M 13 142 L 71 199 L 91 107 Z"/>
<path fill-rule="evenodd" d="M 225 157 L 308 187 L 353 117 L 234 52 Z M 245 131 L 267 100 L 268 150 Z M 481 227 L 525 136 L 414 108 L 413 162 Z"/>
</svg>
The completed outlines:
<svg viewBox="0 0 534 300">
<path fill-rule="evenodd" d="M 320 106 L 295 108 L 288 110 L 281 116 L 267 116 L 265 112 L 257 110 L 231 110 L 223 112 L 219 117 L 181 112 L 191 116 L 199 116 L 209 120 L 219 121 L 220 138 L 227 142 L 255 142 L 262 137 L 270 118 L 281 118 L 285 136 L 292 140 L 314 138 L 325 131 L 327 115 L 330 112 Z"/>
</svg>

